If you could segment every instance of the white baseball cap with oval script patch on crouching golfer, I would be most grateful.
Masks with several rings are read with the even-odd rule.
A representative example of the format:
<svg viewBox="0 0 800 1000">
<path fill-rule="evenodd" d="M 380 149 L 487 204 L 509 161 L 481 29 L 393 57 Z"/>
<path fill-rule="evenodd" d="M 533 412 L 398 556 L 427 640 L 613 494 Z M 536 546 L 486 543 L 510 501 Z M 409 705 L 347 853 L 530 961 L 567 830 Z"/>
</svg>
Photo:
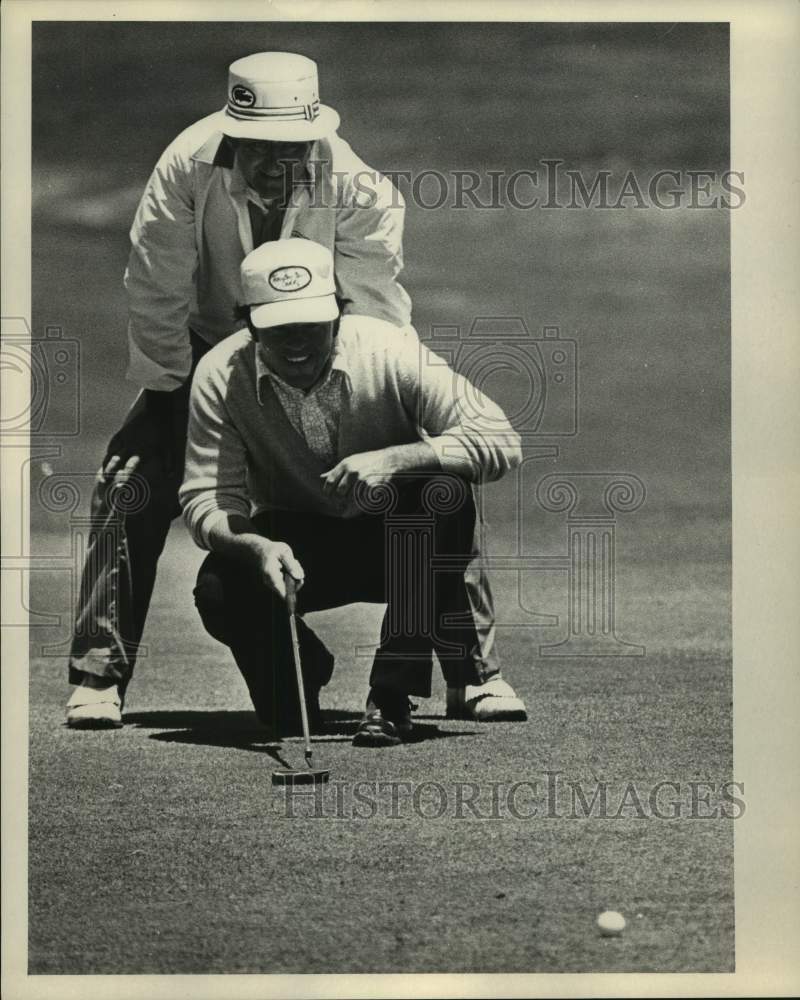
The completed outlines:
<svg viewBox="0 0 800 1000">
<path fill-rule="evenodd" d="M 244 304 L 259 329 L 327 323 L 339 315 L 333 254 L 313 240 L 262 243 L 242 261 Z"/>
</svg>

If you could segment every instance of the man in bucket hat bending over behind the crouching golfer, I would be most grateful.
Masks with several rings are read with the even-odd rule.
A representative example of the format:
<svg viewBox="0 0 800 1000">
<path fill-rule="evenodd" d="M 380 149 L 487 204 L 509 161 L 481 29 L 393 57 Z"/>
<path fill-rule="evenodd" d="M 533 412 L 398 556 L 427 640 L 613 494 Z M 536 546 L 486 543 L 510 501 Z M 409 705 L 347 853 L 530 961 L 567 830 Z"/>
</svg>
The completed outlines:
<svg viewBox="0 0 800 1000">
<path fill-rule="evenodd" d="M 410 322 L 397 283 L 402 199 L 336 135 L 338 125 L 319 102 L 312 60 L 247 56 L 230 67 L 224 110 L 181 133 L 150 177 L 125 275 L 127 377 L 142 392 L 109 444 L 92 498 L 69 662 L 77 685 L 70 726 L 122 725 L 156 565 L 179 513 L 191 374 L 231 332 L 245 255 L 287 237 L 314 240 L 334 256 L 346 313 Z M 146 502 L 122 516 L 113 486 L 133 473 Z"/>
</svg>

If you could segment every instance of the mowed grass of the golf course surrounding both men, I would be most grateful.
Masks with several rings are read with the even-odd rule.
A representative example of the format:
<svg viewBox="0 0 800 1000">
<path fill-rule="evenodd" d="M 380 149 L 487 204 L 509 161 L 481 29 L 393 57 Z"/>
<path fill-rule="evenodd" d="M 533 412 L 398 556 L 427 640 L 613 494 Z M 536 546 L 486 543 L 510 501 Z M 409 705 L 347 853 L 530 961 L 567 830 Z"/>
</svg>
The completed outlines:
<svg viewBox="0 0 800 1000">
<path fill-rule="evenodd" d="M 81 433 L 47 459 L 80 488 L 78 516 L 134 396 L 121 280 L 138 196 L 173 136 L 222 105 L 228 63 L 268 48 L 318 61 L 341 134 L 381 169 L 555 158 L 646 183 L 727 166 L 723 25 L 35 25 L 33 324 L 80 344 Z M 322 815 L 301 802 L 292 817 L 244 684 L 193 608 L 202 554 L 180 524 L 118 732 L 63 726 L 70 573 L 32 574 L 33 611 L 60 616 L 32 632 L 32 973 L 733 969 L 733 824 L 692 818 L 688 786 L 732 778 L 728 232 L 725 212 L 688 208 L 408 206 L 423 337 L 511 316 L 578 344 L 580 433 L 532 466 L 519 516 L 512 483 L 485 490 L 491 550 L 515 551 L 521 517 L 527 554 L 564 552 L 563 515 L 534 498 L 546 472 L 631 472 L 647 487 L 619 517 L 617 552 L 618 633 L 646 656 L 540 656 L 564 635 L 565 574 L 497 574 L 504 672 L 527 724 L 445 721 L 437 669 L 416 742 L 353 748 L 370 665 L 356 649 L 381 609 L 315 616 L 337 656 L 318 756 L 338 784 Z M 509 404 L 509 382 L 490 389 Z M 34 552 L 63 567 L 70 514 L 39 503 L 32 469 Z M 532 611 L 559 624 L 531 625 Z M 299 762 L 300 744 L 283 754 Z M 608 818 L 570 818 L 568 800 L 548 817 L 547 771 L 587 794 L 606 781 Z M 415 812 L 399 790 L 392 818 L 386 791 L 356 818 L 365 780 L 438 782 L 447 809 L 434 818 L 426 796 Z M 517 816 L 458 816 L 464 782 L 491 815 L 492 783 L 516 781 L 539 782 Z M 612 818 L 629 783 L 646 799 L 659 781 L 681 786 L 680 815 Z M 628 918 L 623 938 L 598 936 L 605 908 Z"/>
</svg>

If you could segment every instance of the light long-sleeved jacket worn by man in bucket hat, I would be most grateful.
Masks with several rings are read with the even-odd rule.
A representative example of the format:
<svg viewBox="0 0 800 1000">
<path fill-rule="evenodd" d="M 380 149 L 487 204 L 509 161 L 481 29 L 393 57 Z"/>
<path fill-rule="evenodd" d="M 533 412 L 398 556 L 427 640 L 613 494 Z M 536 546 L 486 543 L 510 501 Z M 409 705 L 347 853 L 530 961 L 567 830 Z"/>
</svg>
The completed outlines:
<svg viewBox="0 0 800 1000">
<path fill-rule="evenodd" d="M 127 377 L 146 389 L 169 391 L 186 380 L 189 329 L 210 344 L 235 329 L 252 223 L 247 187 L 218 128 L 218 115 L 210 115 L 167 147 L 131 228 Z M 308 174 L 309 183 L 292 194 L 280 237 L 303 236 L 331 250 L 346 312 L 410 323 L 411 303 L 397 280 L 400 192 L 337 135 L 313 144 Z"/>
</svg>

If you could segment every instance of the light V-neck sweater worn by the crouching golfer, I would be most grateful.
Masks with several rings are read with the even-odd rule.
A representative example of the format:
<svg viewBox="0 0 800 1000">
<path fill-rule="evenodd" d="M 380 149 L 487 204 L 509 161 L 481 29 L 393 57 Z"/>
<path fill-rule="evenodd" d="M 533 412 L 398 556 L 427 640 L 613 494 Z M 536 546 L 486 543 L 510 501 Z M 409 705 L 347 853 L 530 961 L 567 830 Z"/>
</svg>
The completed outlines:
<svg viewBox="0 0 800 1000">
<path fill-rule="evenodd" d="M 371 317 L 342 319 L 318 399 L 335 439 L 328 457 L 290 419 L 247 331 L 218 344 L 192 382 L 186 470 L 180 490 L 195 541 L 228 514 L 287 509 L 352 517 L 351 500 L 327 497 L 323 473 L 349 455 L 427 441 L 444 472 L 471 482 L 500 478 L 521 460 L 500 407 L 433 354 L 411 329 Z"/>
</svg>

